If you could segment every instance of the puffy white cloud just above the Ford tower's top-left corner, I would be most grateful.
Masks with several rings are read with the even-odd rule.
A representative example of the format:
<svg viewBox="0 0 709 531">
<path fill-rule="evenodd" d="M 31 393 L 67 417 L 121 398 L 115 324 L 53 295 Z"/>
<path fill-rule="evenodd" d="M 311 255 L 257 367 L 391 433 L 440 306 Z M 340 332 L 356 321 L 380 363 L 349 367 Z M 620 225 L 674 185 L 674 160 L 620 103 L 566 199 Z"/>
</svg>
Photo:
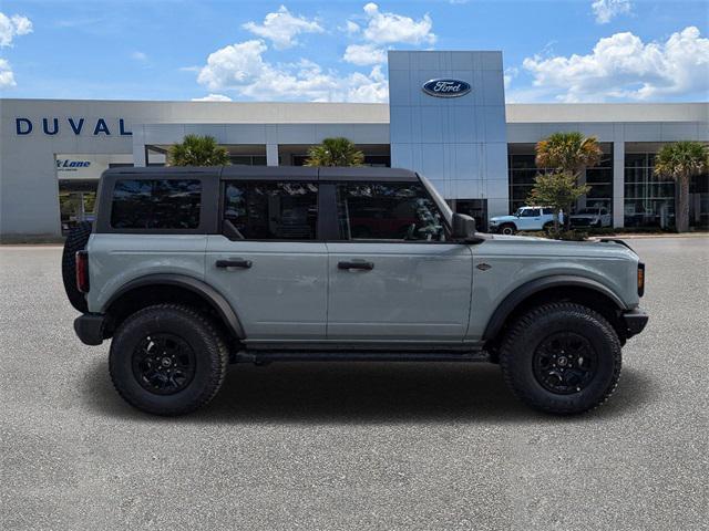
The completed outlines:
<svg viewBox="0 0 709 531">
<path fill-rule="evenodd" d="M 433 21 L 429 14 L 424 14 L 419 21 L 403 14 L 379 11 L 379 6 L 373 2 L 364 6 L 367 28 L 364 39 L 376 44 L 402 42 L 407 44 L 433 44 L 435 34 L 431 32 Z"/>
</svg>

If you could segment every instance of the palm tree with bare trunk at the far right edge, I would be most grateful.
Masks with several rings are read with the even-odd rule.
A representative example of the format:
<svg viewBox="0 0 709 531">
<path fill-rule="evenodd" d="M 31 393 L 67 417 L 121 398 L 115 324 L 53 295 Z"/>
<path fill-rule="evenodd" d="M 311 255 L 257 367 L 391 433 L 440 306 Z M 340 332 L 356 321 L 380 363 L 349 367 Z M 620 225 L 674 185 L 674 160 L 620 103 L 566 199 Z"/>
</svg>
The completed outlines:
<svg viewBox="0 0 709 531">
<path fill-rule="evenodd" d="M 678 232 L 689 229 L 689 180 L 709 171 L 709 147 L 684 140 L 662 146 L 655 156 L 655 175 L 675 180 L 675 225 Z"/>
</svg>

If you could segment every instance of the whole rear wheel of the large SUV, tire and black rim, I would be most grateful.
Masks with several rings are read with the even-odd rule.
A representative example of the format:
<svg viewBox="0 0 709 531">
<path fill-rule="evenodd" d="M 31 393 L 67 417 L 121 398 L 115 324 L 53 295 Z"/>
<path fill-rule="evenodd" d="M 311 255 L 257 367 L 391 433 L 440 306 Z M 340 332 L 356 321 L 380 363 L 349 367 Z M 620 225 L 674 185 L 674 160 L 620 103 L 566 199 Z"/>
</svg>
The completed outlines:
<svg viewBox="0 0 709 531">
<path fill-rule="evenodd" d="M 182 415 L 217 394 L 228 350 L 220 331 L 202 313 L 158 304 L 121 324 L 109 365 L 113 385 L 129 404 L 156 415 Z"/>
</svg>

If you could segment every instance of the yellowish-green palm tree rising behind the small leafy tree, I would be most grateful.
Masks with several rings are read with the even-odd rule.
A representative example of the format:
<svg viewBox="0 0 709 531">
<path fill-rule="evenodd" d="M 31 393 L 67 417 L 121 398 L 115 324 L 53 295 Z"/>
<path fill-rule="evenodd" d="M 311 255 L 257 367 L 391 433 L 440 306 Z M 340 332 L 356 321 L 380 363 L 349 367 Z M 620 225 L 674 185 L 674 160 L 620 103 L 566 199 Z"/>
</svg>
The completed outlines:
<svg viewBox="0 0 709 531">
<path fill-rule="evenodd" d="M 595 136 L 584 136 L 577 132 L 554 133 L 535 146 L 535 164 L 538 168 L 553 169 L 557 174 L 572 176 L 574 184 L 586 169 L 596 166 L 603 150 Z M 564 212 L 564 226 L 571 226 L 569 212 Z"/>
</svg>

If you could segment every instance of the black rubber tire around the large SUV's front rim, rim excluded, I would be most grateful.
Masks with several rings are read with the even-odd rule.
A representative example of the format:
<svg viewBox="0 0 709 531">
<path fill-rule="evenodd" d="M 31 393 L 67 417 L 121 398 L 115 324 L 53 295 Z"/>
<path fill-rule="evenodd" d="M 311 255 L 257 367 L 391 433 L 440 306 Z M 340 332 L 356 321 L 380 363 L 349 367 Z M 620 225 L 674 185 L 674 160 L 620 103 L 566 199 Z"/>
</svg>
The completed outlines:
<svg viewBox="0 0 709 531">
<path fill-rule="evenodd" d="M 577 393 L 547 391 L 534 375 L 536 348 L 557 332 L 585 337 L 597 356 L 593 379 Z M 584 305 L 567 302 L 544 304 L 522 315 L 500 348 L 500 366 L 512 392 L 528 406 L 557 415 L 584 413 L 606 402 L 618 384 L 620 365 L 620 342 L 608 321 Z"/>
</svg>

